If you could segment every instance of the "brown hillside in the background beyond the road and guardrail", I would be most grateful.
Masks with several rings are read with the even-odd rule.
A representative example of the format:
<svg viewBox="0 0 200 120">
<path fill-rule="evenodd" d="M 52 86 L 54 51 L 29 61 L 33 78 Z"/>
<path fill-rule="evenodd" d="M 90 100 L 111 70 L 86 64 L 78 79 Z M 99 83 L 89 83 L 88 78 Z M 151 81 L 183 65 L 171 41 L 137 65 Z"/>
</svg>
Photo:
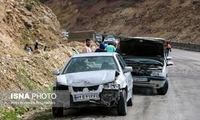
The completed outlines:
<svg viewBox="0 0 200 120">
<path fill-rule="evenodd" d="M 199 0 L 47 0 L 69 31 L 94 29 L 200 44 Z"/>
</svg>

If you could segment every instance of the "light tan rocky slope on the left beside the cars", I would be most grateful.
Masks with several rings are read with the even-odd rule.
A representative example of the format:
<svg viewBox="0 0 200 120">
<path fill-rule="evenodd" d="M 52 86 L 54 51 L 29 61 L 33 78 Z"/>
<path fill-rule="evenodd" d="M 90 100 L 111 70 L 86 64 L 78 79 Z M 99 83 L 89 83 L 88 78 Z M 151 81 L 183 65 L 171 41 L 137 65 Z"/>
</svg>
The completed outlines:
<svg viewBox="0 0 200 120">
<path fill-rule="evenodd" d="M 51 9 L 37 0 L 0 0 L 0 89 L 33 90 L 53 83 L 52 71 L 61 67 L 74 47 L 60 44 L 60 24 Z M 35 40 L 48 51 L 28 54 L 24 45 Z M 78 48 L 78 49 L 79 49 Z"/>
</svg>

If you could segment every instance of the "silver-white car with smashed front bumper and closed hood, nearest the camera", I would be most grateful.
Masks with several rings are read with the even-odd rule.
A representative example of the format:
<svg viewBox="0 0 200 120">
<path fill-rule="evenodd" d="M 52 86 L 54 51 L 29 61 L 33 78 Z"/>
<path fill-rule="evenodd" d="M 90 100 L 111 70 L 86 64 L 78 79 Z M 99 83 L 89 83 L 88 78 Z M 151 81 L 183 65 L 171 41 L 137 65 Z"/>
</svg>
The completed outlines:
<svg viewBox="0 0 200 120">
<path fill-rule="evenodd" d="M 126 115 L 132 105 L 132 67 L 117 53 L 85 53 L 73 56 L 57 72 L 53 115 L 63 115 L 65 108 L 115 107 Z"/>
</svg>

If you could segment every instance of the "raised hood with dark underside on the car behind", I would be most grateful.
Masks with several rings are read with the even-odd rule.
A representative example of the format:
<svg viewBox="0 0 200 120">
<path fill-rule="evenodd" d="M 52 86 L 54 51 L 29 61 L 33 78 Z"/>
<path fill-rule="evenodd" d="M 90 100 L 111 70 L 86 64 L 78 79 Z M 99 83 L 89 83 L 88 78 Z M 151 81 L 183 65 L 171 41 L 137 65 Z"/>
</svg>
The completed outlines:
<svg viewBox="0 0 200 120">
<path fill-rule="evenodd" d="M 164 57 L 164 40 L 125 38 L 120 41 L 122 56 Z"/>
</svg>

